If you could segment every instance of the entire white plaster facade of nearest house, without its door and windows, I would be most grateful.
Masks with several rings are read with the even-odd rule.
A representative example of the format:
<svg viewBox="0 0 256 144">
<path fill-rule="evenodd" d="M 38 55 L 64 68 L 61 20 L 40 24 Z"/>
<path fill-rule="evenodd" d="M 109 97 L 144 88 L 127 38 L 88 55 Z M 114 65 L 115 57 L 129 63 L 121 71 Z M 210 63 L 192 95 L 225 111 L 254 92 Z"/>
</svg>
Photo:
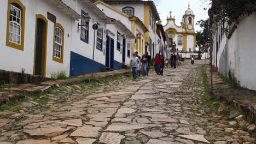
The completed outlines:
<svg viewBox="0 0 256 144">
<path fill-rule="evenodd" d="M 22 4 L 26 7 L 25 16 L 25 35 L 24 35 L 24 51 L 8 47 L 5 44 L 5 36 L 7 29 L 7 0 L 3 0 L 0 5 L 0 19 L 4 20 L 0 31 L 0 69 L 21 72 L 25 69 L 25 73 L 33 74 L 34 65 L 34 34 L 36 27 L 36 14 L 42 14 L 47 17 L 47 11 L 57 17 L 57 22 L 65 28 L 64 36 L 64 56 L 63 64 L 53 61 L 53 37 L 54 37 L 54 23 L 48 20 L 48 37 L 47 37 L 47 53 L 46 53 L 46 77 L 58 71 L 65 71 L 69 75 L 69 62 L 70 62 L 70 46 L 71 37 L 67 38 L 67 34 L 71 34 L 71 18 L 63 15 L 60 9 L 56 9 L 53 5 L 46 1 L 29 1 L 21 0 Z"/>
</svg>

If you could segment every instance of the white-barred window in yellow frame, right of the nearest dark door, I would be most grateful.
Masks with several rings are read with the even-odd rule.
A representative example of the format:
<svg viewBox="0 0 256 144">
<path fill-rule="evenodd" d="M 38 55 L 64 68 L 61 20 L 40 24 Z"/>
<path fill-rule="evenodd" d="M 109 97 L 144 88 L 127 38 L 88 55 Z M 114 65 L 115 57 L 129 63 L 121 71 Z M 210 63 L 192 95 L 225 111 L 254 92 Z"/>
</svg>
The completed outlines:
<svg viewBox="0 0 256 144">
<path fill-rule="evenodd" d="M 56 58 L 61 58 L 61 49 L 62 49 L 62 30 L 59 27 L 55 27 L 55 49 L 54 49 L 54 56 Z"/>
</svg>

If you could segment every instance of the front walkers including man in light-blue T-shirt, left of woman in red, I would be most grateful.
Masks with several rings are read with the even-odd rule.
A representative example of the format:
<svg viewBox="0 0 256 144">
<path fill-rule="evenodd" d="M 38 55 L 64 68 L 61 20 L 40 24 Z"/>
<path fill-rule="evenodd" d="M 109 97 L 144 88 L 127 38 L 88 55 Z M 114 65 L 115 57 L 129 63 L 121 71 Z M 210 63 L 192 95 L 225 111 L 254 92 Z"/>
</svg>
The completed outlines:
<svg viewBox="0 0 256 144">
<path fill-rule="evenodd" d="M 138 55 L 138 52 L 132 53 L 132 55 L 133 57 L 131 58 L 130 67 L 132 69 L 133 79 L 140 77 L 141 72 L 142 78 L 148 76 L 151 61 L 148 52 L 146 52 L 145 55 L 142 55 L 142 57 Z"/>
</svg>

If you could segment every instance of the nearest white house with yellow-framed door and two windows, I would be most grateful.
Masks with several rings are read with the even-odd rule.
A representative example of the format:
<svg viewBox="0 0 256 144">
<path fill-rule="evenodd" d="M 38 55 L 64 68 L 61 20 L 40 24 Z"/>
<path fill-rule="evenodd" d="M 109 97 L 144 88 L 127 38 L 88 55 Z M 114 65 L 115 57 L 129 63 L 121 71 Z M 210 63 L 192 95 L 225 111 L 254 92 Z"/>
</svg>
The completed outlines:
<svg viewBox="0 0 256 144">
<path fill-rule="evenodd" d="M 0 13 L 0 69 L 69 75 L 72 23 L 78 13 L 57 0 L 2 0 Z"/>
</svg>

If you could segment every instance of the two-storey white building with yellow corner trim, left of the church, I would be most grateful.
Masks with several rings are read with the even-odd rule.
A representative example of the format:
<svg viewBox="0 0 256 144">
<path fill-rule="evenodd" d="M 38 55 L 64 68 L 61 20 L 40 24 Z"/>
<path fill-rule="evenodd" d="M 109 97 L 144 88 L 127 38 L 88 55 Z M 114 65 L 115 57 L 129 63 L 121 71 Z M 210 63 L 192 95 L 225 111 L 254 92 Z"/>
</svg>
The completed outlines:
<svg viewBox="0 0 256 144">
<path fill-rule="evenodd" d="M 131 52 L 138 51 L 140 55 L 149 52 L 149 55 L 154 56 L 155 46 L 158 44 L 156 21 L 159 21 L 160 17 L 153 1 L 101 0 L 95 1 L 95 4 L 105 5 L 107 10 L 104 9 L 104 13 L 117 20 L 123 22 L 123 20 L 127 21 L 127 18 L 129 18 L 131 24 L 126 25 L 126 22 L 124 24 L 128 28 L 131 27 L 132 33 L 136 36 L 140 34 L 140 38 L 136 39 L 136 44 L 131 45 Z M 102 6 L 97 7 L 101 9 Z M 126 19 L 120 19 L 120 15 L 123 15 Z"/>
</svg>

